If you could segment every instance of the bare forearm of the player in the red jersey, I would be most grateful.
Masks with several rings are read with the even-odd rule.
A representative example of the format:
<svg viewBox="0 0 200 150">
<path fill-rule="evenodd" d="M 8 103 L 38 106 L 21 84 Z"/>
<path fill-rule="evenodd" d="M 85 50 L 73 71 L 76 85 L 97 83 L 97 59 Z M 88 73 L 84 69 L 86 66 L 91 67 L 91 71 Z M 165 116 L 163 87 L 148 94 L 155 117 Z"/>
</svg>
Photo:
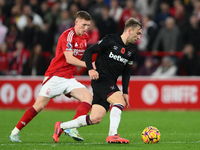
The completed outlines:
<svg viewBox="0 0 200 150">
<path fill-rule="evenodd" d="M 67 63 L 74 66 L 86 67 L 85 62 L 74 57 L 72 51 L 65 51 L 64 55 L 65 55 Z"/>
</svg>

